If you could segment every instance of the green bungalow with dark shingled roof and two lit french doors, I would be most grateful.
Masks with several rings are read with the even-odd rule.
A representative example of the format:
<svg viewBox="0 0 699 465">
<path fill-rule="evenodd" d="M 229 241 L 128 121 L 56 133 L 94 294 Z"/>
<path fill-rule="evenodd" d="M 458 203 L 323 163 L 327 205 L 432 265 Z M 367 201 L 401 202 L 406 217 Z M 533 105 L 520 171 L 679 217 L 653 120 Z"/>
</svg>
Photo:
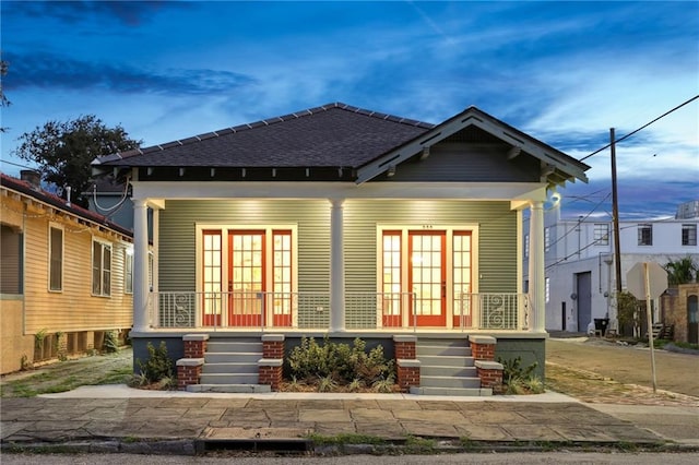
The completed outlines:
<svg viewBox="0 0 699 465">
<path fill-rule="evenodd" d="M 543 203 L 589 166 L 475 107 L 334 103 L 93 166 L 132 187 L 134 359 L 165 341 L 182 388 L 274 389 L 304 336 L 381 344 L 415 393 L 489 393 L 474 343 L 543 375 Z"/>
</svg>

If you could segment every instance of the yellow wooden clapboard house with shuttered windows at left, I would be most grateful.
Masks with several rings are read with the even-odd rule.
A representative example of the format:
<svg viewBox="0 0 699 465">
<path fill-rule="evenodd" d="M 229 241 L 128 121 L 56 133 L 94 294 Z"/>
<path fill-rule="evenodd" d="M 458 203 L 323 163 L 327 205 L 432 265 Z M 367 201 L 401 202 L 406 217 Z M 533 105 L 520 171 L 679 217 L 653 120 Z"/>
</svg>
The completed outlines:
<svg viewBox="0 0 699 465">
<path fill-rule="evenodd" d="M 132 233 L 0 174 L 0 373 L 123 342 L 133 321 Z"/>
</svg>

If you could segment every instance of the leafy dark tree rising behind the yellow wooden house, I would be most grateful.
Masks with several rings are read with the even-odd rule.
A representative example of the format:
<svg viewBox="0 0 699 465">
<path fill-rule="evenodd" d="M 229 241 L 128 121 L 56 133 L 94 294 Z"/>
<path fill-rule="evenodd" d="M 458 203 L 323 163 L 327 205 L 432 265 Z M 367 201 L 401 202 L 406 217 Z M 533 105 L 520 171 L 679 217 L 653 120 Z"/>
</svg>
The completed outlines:
<svg viewBox="0 0 699 465">
<path fill-rule="evenodd" d="M 70 187 L 70 201 L 87 207 L 91 163 L 98 156 L 137 148 L 134 141 L 117 126 L 107 128 L 94 115 L 72 121 L 48 121 L 19 138 L 16 155 L 38 165 L 42 178 L 59 188 Z"/>
</svg>

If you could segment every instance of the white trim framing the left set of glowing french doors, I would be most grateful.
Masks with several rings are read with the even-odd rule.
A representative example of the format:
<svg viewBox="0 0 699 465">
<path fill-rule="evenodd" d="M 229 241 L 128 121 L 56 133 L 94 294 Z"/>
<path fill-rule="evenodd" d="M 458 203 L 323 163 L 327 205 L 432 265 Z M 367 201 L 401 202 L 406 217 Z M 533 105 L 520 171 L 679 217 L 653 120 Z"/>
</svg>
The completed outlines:
<svg viewBox="0 0 699 465">
<path fill-rule="evenodd" d="M 246 225 L 246 224 L 215 224 L 215 223 L 196 223 L 194 224 L 194 230 L 196 230 L 196 235 L 197 235 L 197 240 L 196 240 L 196 248 L 197 248 L 197 253 L 196 253 L 196 273 L 194 273 L 194 278 L 197 279 L 197 286 L 196 286 L 196 290 L 197 293 L 202 293 L 202 269 L 203 269 L 203 255 L 202 255 L 202 249 L 203 249 L 203 243 L 202 243 L 202 239 L 203 239 L 203 231 L 204 230 L 220 230 L 221 231 L 221 283 L 222 283 L 222 291 L 227 291 L 227 286 L 228 286 L 228 233 L 229 231 L 236 231 L 236 230 L 263 230 L 265 237 L 271 238 L 272 237 L 272 233 L 274 230 L 291 230 L 292 231 L 292 294 L 294 293 L 298 293 L 298 225 L 297 224 L 264 224 L 264 225 L 260 225 L 260 224 L 251 224 L 251 225 Z M 274 241 L 272 240 L 265 240 L 265 253 L 264 253 L 264 267 L 265 270 L 272 270 L 272 266 L 274 265 L 274 254 L 270 253 L 272 252 L 274 247 Z M 272 287 L 272 283 L 274 279 L 274 274 L 273 273 L 266 273 L 265 276 L 266 282 L 264 283 L 264 287 L 266 289 Z M 226 299 L 224 299 L 224 307 L 223 307 L 223 314 L 222 314 L 222 324 L 225 326 L 228 324 L 227 318 L 228 318 L 228 310 L 226 308 L 227 302 L 225 302 Z M 294 300 L 297 301 L 297 300 Z M 296 306 L 292 306 L 292 326 L 293 327 L 298 327 L 298 308 Z M 196 311 L 196 322 L 197 325 L 200 326 L 202 324 L 202 315 L 201 315 L 201 308 L 199 306 L 199 299 L 197 299 L 197 307 L 194 309 Z M 266 326 L 272 326 L 273 323 L 273 318 L 274 315 L 272 314 L 272 312 L 268 312 L 268 314 L 265 315 L 268 321 L 265 321 L 265 325 Z"/>
</svg>

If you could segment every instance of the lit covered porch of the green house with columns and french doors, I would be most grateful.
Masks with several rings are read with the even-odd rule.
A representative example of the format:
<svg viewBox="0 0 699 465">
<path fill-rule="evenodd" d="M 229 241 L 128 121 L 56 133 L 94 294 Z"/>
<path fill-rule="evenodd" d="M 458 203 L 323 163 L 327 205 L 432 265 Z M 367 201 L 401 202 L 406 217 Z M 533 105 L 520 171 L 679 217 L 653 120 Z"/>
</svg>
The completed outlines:
<svg viewBox="0 0 699 465">
<path fill-rule="evenodd" d="M 149 184 L 138 186 L 138 190 L 149 188 Z M 250 189 L 247 193 L 254 195 Z M 489 205 L 497 205 L 498 211 L 493 215 L 502 216 L 505 213 L 512 219 L 494 230 L 512 228 L 520 231 L 522 208 L 530 208 L 528 293 L 523 291 L 523 271 L 519 260 L 523 255 L 522 235 L 510 235 L 510 245 L 506 246 L 511 252 L 502 255 L 497 250 L 498 245 L 489 246 L 484 240 L 490 234 L 486 216 L 482 216 L 481 223 L 438 218 L 434 223 L 419 224 L 410 219 L 396 224 L 390 218 L 383 225 L 372 222 L 370 214 L 366 213 L 366 224 L 357 227 L 356 215 L 367 210 L 367 201 L 330 200 L 325 203 L 329 205 L 325 207 L 325 225 L 315 219 L 311 241 L 306 238 L 308 228 L 304 214 L 283 224 L 276 218 L 268 222 L 281 224 L 279 227 L 268 226 L 257 218 L 253 224 L 247 224 L 233 215 L 230 219 L 214 223 L 210 216 L 221 215 L 220 212 L 201 213 L 203 205 L 211 202 L 209 200 L 182 199 L 181 194 L 173 194 L 167 200 L 135 199 L 133 333 L 146 335 L 153 331 L 197 330 L 318 331 L 334 334 L 427 330 L 545 334 L 542 313 L 545 190 L 534 189 L 528 195 L 531 196 L 528 201 L 483 202 L 476 199 L 457 203 L 459 212 L 469 212 L 472 208 L 470 204 L 474 202 L 479 202 L 483 211 L 496 210 Z M 411 199 L 386 201 L 391 202 L 389 205 L 407 205 L 403 208 L 412 207 L 414 202 Z M 256 203 L 258 207 L 261 204 L 260 200 L 248 198 L 222 202 L 215 203 L 213 210 L 233 211 L 248 203 Z M 279 206 L 284 200 L 266 202 Z M 305 205 L 307 201 L 294 202 L 297 202 L 293 204 L 296 206 Z M 322 210 L 322 199 L 310 202 L 315 215 L 324 216 L 317 212 Z M 427 210 L 437 208 L 435 205 L 443 201 L 427 201 L 427 206 L 424 200 L 415 202 L 422 202 L 419 208 Z M 447 202 L 454 204 L 453 200 Z M 162 216 L 169 213 L 168 208 L 176 219 L 168 219 L 162 225 L 165 223 Z M 180 210 L 186 208 L 189 216 L 182 219 Z M 191 216 L 189 211 L 192 210 L 200 213 Z M 479 212 L 473 215 L 482 215 Z M 153 225 L 150 231 L 149 213 Z M 464 214 L 467 215 L 472 214 Z M 264 213 L 259 216 L 264 216 Z M 190 235 L 182 243 L 186 240 L 193 247 L 187 250 L 186 261 L 178 261 L 187 265 L 174 270 L 171 258 L 163 265 L 163 253 L 169 254 L 169 250 L 177 249 L 183 254 L 179 243 L 173 246 L 170 239 L 173 230 L 179 227 L 188 229 Z M 167 250 L 163 250 L 163 235 L 167 235 Z M 329 250 L 315 243 L 322 240 L 323 235 Z M 149 237 L 152 237 L 151 254 Z M 369 243 L 371 249 L 364 242 L 355 250 L 347 245 L 347 241 L 359 243 L 360 240 Z M 258 243 L 259 250 L 256 249 Z M 308 251 L 311 247 L 313 249 Z M 260 258 L 259 266 L 252 264 L 257 260 L 256 253 Z M 319 257 L 321 253 L 325 255 Z M 209 262 L 208 257 L 214 259 Z M 277 259 L 280 264 L 274 262 Z M 498 263 L 491 264 L 488 260 Z M 284 264 L 287 262 L 288 266 Z M 501 270 L 505 269 L 499 263 L 503 262 L 507 262 L 511 277 L 502 277 L 505 273 Z M 327 266 L 324 272 L 323 263 Z M 173 278 L 179 275 L 187 278 Z M 167 281 L 166 286 L 162 286 L 163 276 Z M 236 287 L 238 282 L 241 285 Z"/>
</svg>

